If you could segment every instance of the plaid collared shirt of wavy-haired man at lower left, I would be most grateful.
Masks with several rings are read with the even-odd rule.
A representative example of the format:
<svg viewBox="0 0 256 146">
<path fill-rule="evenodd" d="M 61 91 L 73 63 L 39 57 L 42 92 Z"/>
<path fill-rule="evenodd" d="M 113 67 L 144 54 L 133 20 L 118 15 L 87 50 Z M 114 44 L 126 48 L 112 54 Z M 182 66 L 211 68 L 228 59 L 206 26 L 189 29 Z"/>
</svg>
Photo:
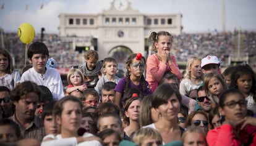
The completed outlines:
<svg viewBox="0 0 256 146">
<path fill-rule="evenodd" d="M 23 126 L 20 125 L 19 121 L 15 117 L 15 113 L 9 119 L 11 119 L 19 125 L 20 132 L 23 138 L 37 139 L 41 142 L 41 140 L 43 140 L 43 137 L 45 137 L 46 135 L 43 122 L 37 116 L 35 116 L 34 120 L 30 123 L 30 126 L 28 126 L 27 128 L 23 128 Z"/>
</svg>

